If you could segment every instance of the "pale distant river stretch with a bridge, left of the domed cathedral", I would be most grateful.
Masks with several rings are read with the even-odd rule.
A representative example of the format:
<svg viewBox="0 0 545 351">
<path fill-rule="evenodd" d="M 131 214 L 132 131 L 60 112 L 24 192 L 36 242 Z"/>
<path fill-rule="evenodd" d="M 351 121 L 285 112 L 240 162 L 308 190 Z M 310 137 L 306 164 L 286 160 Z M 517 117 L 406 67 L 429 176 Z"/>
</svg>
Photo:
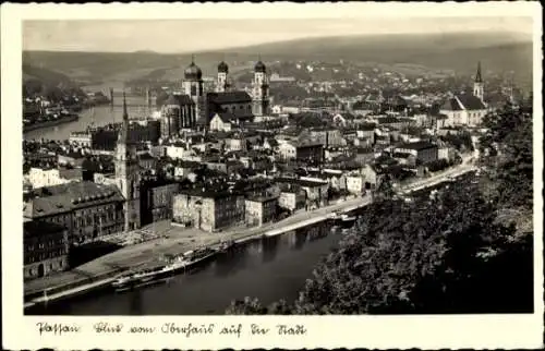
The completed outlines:
<svg viewBox="0 0 545 351">
<path fill-rule="evenodd" d="M 123 108 L 121 105 L 121 96 L 114 96 L 114 107 L 109 105 L 97 106 L 94 109 L 86 109 L 80 113 L 77 121 L 68 122 L 55 126 L 43 128 L 29 131 L 23 134 L 25 140 L 53 140 L 63 141 L 70 137 L 70 133 L 84 131 L 88 125 L 106 125 L 108 123 L 121 122 L 123 117 Z M 129 118 L 142 117 L 145 114 L 146 101 L 141 96 L 126 97 Z"/>
</svg>

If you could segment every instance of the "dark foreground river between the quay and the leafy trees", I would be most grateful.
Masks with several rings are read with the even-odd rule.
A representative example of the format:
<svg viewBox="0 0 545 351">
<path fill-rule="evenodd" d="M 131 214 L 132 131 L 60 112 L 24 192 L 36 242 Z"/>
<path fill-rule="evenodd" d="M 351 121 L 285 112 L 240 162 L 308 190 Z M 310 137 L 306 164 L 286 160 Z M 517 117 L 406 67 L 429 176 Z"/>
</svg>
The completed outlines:
<svg viewBox="0 0 545 351">
<path fill-rule="evenodd" d="M 41 306 L 45 315 L 221 315 L 234 299 L 293 301 L 341 235 L 330 225 L 258 239 L 170 281 L 128 292 L 102 291 Z"/>
</svg>

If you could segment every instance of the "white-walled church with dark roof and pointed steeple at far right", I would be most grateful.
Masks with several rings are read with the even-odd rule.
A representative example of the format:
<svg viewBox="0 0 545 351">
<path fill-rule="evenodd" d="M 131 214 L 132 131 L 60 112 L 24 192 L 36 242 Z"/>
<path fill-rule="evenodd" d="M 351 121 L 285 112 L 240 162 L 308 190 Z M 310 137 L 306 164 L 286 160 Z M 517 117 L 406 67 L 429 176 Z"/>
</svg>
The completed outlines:
<svg viewBox="0 0 545 351">
<path fill-rule="evenodd" d="M 484 102 L 484 83 L 481 74 L 481 62 L 477 65 L 473 94 L 460 94 L 448 98 L 440 108 L 440 113 L 447 116 L 445 124 L 448 126 L 467 125 L 477 126 L 488 112 Z"/>
</svg>

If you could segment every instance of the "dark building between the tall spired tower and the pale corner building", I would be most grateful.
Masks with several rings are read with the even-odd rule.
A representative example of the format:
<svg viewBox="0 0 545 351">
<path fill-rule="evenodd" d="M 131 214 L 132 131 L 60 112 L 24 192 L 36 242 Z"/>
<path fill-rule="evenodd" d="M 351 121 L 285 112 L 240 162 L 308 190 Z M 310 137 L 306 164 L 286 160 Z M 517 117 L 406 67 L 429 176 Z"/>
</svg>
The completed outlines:
<svg viewBox="0 0 545 351">
<path fill-rule="evenodd" d="M 172 203 L 180 184 L 169 180 L 145 180 L 141 184 L 141 226 L 172 219 Z"/>
</svg>

